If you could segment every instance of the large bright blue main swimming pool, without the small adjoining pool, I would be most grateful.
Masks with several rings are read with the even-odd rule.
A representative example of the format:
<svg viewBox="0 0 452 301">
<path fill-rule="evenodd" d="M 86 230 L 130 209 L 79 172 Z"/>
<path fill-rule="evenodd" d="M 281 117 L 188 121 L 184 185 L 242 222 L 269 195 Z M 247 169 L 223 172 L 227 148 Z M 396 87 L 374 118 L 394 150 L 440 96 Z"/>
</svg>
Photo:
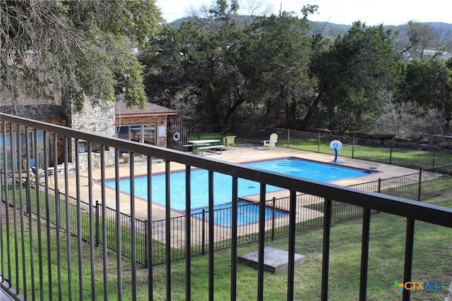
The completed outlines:
<svg viewBox="0 0 452 301">
<path fill-rule="evenodd" d="M 355 176 L 364 176 L 371 171 L 335 164 L 326 164 L 317 161 L 288 157 L 283 159 L 272 159 L 266 161 L 254 161 L 245 163 L 246 166 L 266 169 L 268 171 L 278 171 L 291 176 L 309 178 L 319 181 L 339 180 Z M 172 209 L 185 211 L 185 171 L 173 171 L 170 176 L 170 202 Z M 223 173 L 213 174 L 213 202 L 215 205 L 225 204 L 232 201 L 232 176 Z M 153 175 L 152 178 L 153 202 L 165 205 L 165 173 Z M 115 187 L 115 180 L 107 180 L 106 185 Z M 259 193 L 260 185 L 251 180 L 239 178 L 239 197 L 246 195 L 256 195 Z M 281 188 L 267 185 L 266 191 L 272 192 Z M 119 180 L 119 190 L 130 192 L 130 179 L 121 178 Z M 135 195 L 146 199 L 148 197 L 148 177 L 135 177 Z M 191 170 L 191 209 L 208 206 L 208 171 L 205 169 Z"/>
</svg>

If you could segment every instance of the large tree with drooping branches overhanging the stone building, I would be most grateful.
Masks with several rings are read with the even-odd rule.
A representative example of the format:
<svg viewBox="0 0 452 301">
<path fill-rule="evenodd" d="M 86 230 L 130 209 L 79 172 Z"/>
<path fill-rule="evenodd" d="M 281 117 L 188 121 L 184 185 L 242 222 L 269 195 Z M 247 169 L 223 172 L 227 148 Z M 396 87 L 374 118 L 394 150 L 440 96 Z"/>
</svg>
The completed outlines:
<svg viewBox="0 0 452 301">
<path fill-rule="evenodd" d="M 153 0 L 0 1 L 2 91 L 81 109 L 124 93 L 144 104 L 141 47 L 162 22 Z"/>
</svg>

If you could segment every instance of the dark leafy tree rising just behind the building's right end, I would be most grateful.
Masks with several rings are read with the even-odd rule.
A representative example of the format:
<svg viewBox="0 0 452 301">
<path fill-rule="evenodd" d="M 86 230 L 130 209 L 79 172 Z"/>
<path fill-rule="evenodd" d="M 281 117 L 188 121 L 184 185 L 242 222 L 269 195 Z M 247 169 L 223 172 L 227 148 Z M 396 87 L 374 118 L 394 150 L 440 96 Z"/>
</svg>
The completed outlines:
<svg viewBox="0 0 452 301">
<path fill-rule="evenodd" d="M 238 6 L 232 1 L 229 7 L 218 1 L 210 10 L 218 26 L 185 22 L 149 41 L 141 61 L 147 66 L 148 94 L 156 102 L 188 104 L 186 109 L 198 112 L 197 121 L 227 123 L 230 108 L 241 97 L 235 66 L 241 33 L 230 19 Z"/>
</svg>

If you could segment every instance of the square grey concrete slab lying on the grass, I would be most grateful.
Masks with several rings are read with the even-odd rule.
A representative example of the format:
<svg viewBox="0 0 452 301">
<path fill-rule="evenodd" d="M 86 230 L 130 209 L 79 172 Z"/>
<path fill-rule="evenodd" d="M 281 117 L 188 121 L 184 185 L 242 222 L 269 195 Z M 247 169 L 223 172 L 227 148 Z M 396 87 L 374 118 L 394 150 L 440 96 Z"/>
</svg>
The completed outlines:
<svg viewBox="0 0 452 301">
<path fill-rule="evenodd" d="M 258 266 L 258 251 L 249 252 L 237 257 L 239 262 L 250 266 Z M 302 254 L 295 254 L 295 265 L 302 264 L 305 258 Z M 289 252 L 275 249 L 274 247 L 265 247 L 263 249 L 263 267 L 267 271 L 276 273 L 287 270 L 289 262 Z"/>
</svg>

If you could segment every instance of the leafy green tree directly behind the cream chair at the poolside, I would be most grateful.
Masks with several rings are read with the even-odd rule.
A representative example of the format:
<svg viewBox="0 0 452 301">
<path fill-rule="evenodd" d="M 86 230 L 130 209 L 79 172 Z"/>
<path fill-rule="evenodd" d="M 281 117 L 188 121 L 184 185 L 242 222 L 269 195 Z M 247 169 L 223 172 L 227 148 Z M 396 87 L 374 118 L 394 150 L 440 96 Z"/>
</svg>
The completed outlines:
<svg viewBox="0 0 452 301">
<path fill-rule="evenodd" d="M 250 83 L 250 96 L 264 104 L 261 123 L 293 128 L 315 92 L 309 75 L 309 23 L 283 12 L 257 18 L 249 30 L 253 44 L 242 47 L 239 66 Z"/>
</svg>

